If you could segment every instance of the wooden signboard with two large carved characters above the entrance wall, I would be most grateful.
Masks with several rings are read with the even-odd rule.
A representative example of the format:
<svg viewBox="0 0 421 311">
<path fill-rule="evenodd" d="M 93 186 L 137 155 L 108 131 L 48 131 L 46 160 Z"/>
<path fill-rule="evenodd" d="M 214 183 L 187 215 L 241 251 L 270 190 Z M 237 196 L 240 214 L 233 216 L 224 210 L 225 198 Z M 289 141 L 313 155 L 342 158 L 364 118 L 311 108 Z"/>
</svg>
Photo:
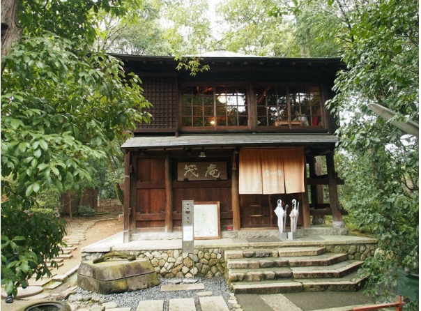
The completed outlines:
<svg viewBox="0 0 421 311">
<path fill-rule="evenodd" d="M 227 162 L 178 162 L 178 181 L 226 181 Z"/>
</svg>

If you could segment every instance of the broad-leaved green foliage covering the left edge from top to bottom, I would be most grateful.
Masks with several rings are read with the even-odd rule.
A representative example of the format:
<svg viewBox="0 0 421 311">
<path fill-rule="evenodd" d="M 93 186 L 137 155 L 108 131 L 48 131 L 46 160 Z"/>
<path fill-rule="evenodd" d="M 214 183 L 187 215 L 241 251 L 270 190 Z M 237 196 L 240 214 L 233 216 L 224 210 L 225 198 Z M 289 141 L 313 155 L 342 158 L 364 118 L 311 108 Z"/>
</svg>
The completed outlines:
<svg viewBox="0 0 421 311">
<path fill-rule="evenodd" d="M 45 260 L 63 244 L 64 223 L 31 212 L 38 195 L 52 185 L 79 190 L 91 181 L 89 160 L 105 161 L 109 142 L 150 120 L 139 77 L 93 50 L 95 13 L 132 8 L 139 1 L 20 3 L 24 37 L 1 59 L 1 284 L 8 294 L 33 274 L 48 275 Z"/>
</svg>

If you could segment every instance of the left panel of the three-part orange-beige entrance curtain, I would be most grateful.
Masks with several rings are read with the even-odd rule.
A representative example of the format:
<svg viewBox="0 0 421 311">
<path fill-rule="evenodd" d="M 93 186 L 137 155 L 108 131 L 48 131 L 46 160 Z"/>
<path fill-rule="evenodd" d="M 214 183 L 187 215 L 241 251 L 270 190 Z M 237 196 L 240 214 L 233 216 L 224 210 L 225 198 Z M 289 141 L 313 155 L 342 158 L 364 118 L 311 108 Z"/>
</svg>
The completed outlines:
<svg viewBox="0 0 421 311">
<path fill-rule="evenodd" d="M 261 195 L 261 159 L 259 149 L 242 149 L 238 165 L 240 195 Z"/>
</svg>

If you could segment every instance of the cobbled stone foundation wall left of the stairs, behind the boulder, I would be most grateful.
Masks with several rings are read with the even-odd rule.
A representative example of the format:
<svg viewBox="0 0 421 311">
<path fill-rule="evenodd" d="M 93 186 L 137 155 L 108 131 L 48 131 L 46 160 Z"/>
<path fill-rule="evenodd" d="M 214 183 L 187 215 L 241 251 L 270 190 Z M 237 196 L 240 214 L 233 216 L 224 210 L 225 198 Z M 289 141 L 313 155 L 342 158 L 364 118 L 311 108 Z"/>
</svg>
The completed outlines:
<svg viewBox="0 0 421 311">
<path fill-rule="evenodd" d="M 225 264 L 224 250 L 221 248 L 211 248 L 194 250 L 193 254 L 183 257 L 181 250 L 141 250 L 123 251 L 136 255 L 139 258 L 146 258 L 151 261 L 153 268 L 158 274 L 158 278 L 193 278 L 224 275 Z M 82 253 L 82 261 L 99 258 L 105 253 Z"/>
</svg>

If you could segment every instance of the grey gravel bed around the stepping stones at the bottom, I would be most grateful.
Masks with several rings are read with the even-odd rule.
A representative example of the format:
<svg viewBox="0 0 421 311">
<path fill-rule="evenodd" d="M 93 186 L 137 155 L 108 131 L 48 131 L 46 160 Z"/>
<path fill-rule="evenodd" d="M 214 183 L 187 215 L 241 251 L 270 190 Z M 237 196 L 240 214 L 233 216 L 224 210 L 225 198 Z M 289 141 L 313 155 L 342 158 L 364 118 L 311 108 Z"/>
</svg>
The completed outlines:
<svg viewBox="0 0 421 311">
<path fill-rule="evenodd" d="M 171 281 L 172 280 L 172 281 Z M 161 278 L 160 282 L 161 285 L 165 284 L 174 284 L 174 280 L 180 279 L 167 279 Z M 181 280 L 180 280 L 181 281 Z M 137 308 L 137 304 L 139 301 L 146 301 L 146 300 L 164 300 L 164 311 L 168 311 L 168 304 L 169 299 L 173 298 L 194 298 L 194 303 L 196 304 L 197 311 L 201 311 L 200 304 L 199 304 L 199 297 L 196 296 L 196 293 L 200 291 L 212 291 L 213 296 L 222 296 L 225 301 L 228 301 L 229 291 L 227 282 L 225 282 L 224 278 L 198 278 L 197 283 L 203 283 L 205 289 L 204 290 L 192 290 L 192 291 L 160 291 L 160 286 L 151 287 L 148 289 L 141 289 L 139 291 L 128 291 L 121 294 L 96 294 L 91 291 L 85 291 L 83 289 L 78 288 L 75 294 L 82 294 L 84 296 L 93 296 L 98 298 L 104 298 L 106 301 L 114 301 L 117 303 L 118 308 L 132 308 L 131 311 L 135 311 Z M 231 305 L 227 303 L 231 310 Z"/>
</svg>

